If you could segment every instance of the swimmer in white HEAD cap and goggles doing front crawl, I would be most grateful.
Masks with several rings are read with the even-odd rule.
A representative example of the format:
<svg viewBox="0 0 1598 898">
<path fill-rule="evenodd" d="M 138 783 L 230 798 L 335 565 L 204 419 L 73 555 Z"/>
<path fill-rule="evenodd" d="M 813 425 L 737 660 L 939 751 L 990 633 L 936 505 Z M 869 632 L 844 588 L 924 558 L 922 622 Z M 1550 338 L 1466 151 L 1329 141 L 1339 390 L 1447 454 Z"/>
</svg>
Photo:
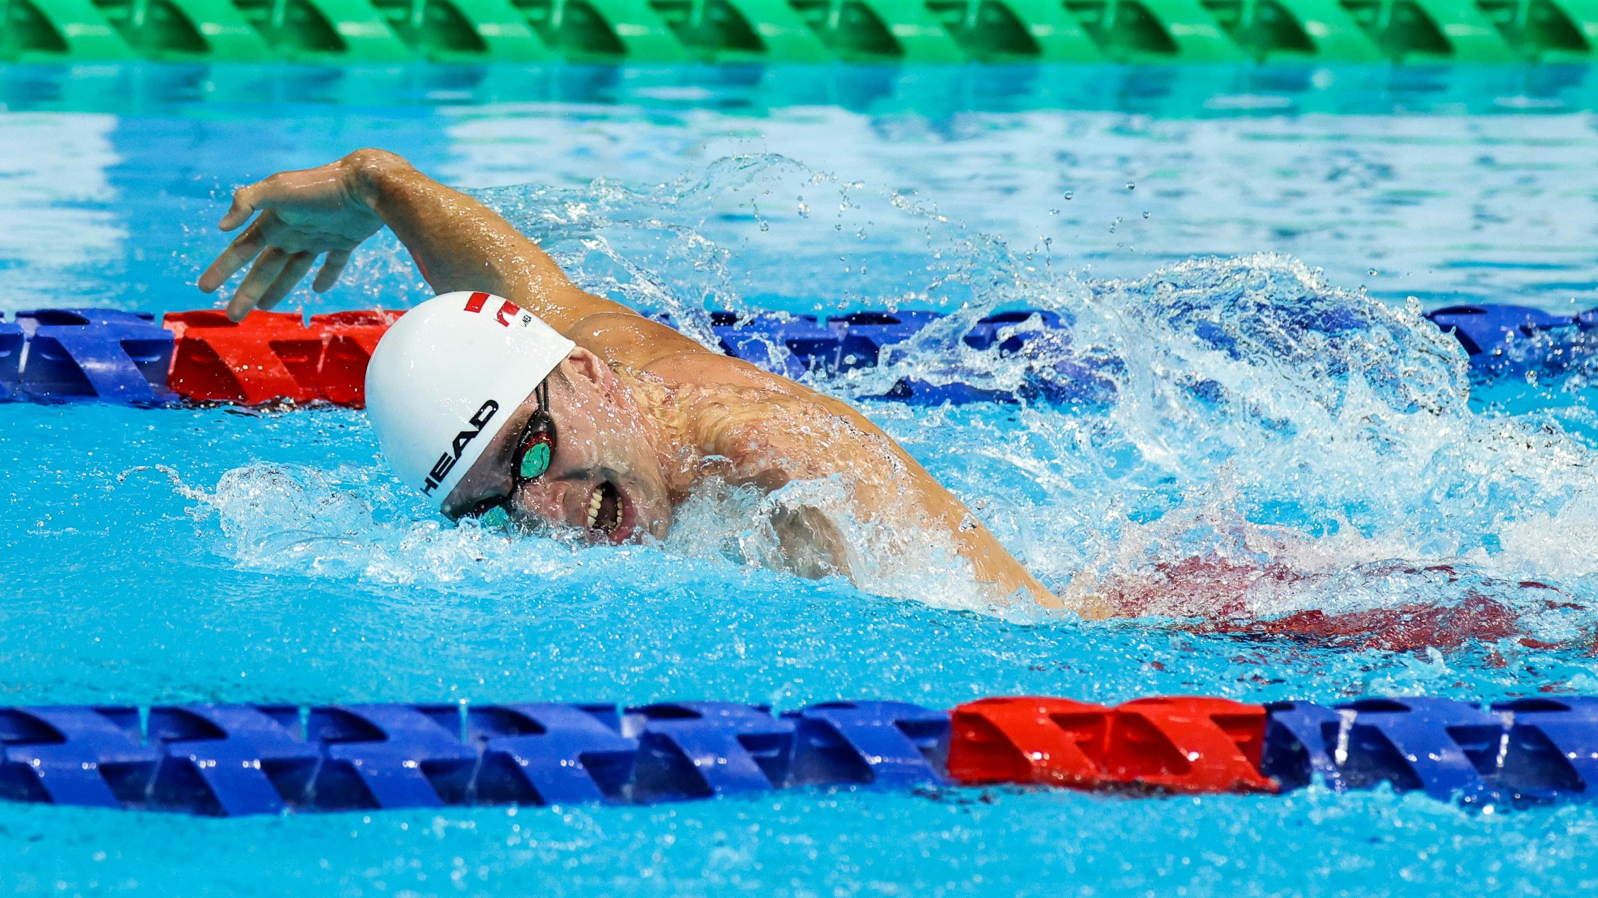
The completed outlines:
<svg viewBox="0 0 1598 898">
<path fill-rule="evenodd" d="M 503 511 L 625 543 L 663 538 L 673 507 L 710 478 L 767 492 L 833 478 L 857 521 L 941 534 L 991 601 L 1064 607 L 858 411 L 583 291 L 499 214 L 395 153 L 243 187 L 221 227 L 246 222 L 198 284 L 214 292 L 251 265 L 233 321 L 281 302 L 318 257 L 312 286 L 332 288 L 385 225 L 444 294 L 384 336 L 368 414 L 393 468 L 451 519 Z M 858 546 L 820 510 L 770 524 L 778 566 L 853 578 Z"/>
</svg>

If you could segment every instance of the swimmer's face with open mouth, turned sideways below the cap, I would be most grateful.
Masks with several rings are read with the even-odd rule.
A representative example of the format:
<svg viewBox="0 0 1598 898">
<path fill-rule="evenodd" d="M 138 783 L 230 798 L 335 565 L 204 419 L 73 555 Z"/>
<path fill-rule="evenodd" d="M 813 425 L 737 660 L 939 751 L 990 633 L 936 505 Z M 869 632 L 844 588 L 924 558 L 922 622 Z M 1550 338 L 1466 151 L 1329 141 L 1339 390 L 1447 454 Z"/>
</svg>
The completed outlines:
<svg viewBox="0 0 1598 898">
<path fill-rule="evenodd" d="M 577 527 L 607 543 L 636 542 L 646 532 L 665 537 L 671 502 L 660 459 L 610 368 L 586 350 L 572 350 L 551 374 L 550 406 L 556 439 L 548 470 L 519 487 L 511 471 L 539 409 L 537 396 L 527 396 L 451 491 L 444 515 L 459 518 L 505 500 L 505 513 L 523 527 Z"/>
</svg>

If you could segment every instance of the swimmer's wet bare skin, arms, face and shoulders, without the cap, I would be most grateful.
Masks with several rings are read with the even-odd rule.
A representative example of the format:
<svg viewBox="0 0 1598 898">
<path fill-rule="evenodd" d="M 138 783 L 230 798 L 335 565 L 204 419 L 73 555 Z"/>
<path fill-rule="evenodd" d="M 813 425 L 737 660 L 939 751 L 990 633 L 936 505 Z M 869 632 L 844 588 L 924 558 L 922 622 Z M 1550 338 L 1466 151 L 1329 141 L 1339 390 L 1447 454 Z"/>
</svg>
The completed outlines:
<svg viewBox="0 0 1598 898">
<path fill-rule="evenodd" d="M 548 471 L 513 489 L 511 459 L 537 407 L 529 396 L 446 499 L 446 515 L 503 502 L 523 524 L 630 542 L 646 532 L 663 537 L 671 508 L 706 478 L 765 491 L 837 478 L 857 519 L 943 537 L 994 601 L 1020 593 L 1063 604 L 858 411 L 580 289 L 499 214 L 393 153 L 360 150 L 243 187 L 221 227 L 246 222 L 200 276 L 200 289 L 213 292 L 252 262 L 229 300 L 235 321 L 281 302 L 318 257 L 313 288 L 329 289 L 350 251 L 387 225 L 435 291 L 503 296 L 577 344 L 550 375 L 558 441 Z M 773 530 L 785 567 L 852 575 L 853 546 L 825 515 L 783 511 Z M 1101 614 L 1091 598 L 1072 604 Z"/>
</svg>

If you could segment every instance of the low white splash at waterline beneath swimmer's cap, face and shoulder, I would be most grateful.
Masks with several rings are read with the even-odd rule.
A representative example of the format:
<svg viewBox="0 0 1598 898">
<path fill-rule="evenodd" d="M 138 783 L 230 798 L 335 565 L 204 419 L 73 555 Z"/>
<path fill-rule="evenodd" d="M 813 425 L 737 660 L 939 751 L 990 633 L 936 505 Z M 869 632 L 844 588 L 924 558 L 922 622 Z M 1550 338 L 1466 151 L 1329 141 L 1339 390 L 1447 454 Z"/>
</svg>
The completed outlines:
<svg viewBox="0 0 1598 898">
<path fill-rule="evenodd" d="M 748 567 L 789 570 L 794 559 L 783 556 L 772 518 L 815 508 L 853 546 L 853 582 L 868 593 L 1040 617 L 984 594 L 948 540 L 857 521 L 844 487 L 831 481 L 794 481 L 764 494 L 711 479 L 679 507 L 666 540 L 622 548 L 588 545 L 566 529 L 523 538 L 471 519 L 449 526 L 380 473 L 356 467 L 246 465 L 227 471 L 214 492 L 184 487 L 184 495 L 198 502 L 197 518 L 219 519 L 214 548 L 243 569 L 481 596 L 524 583 L 582 591 L 618 572 L 660 583 L 657 570 L 673 566 L 689 580 L 729 580 Z"/>
</svg>

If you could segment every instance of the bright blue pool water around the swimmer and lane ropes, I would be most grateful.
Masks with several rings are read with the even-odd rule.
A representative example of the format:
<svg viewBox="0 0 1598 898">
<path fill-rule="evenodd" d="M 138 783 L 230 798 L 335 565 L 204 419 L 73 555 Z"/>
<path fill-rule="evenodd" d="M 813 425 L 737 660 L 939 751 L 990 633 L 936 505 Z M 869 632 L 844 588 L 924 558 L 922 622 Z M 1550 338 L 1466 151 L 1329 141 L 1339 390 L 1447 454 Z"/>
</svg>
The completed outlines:
<svg viewBox="0 0 1598 898">
<path fill-rule="evenodd" d="M 227 192 L 363 145 L 471 189 L 590 289 L 705 308 L 1074 320 L 1072 404 L 861 407 L 1050 586 L 765 570 L 759 502 L 663 545 L 451 527 L 360 412 L 0 407 L 3 703 L 1245 701 L 1598 692 L 1590 369 L 1473 379 L 1421 318 L 1598 305 L 1585 72 L 0 69 L 0 310 L 211 305 Z M 392 240 L 312 312 L 427 297 Z M 880 594 L 879 594 L 880 593 Z M 1585 805 L 793 791 L 201 820 L 0 805 L 18 893 L 1569 895 Z"/>
</svg>

